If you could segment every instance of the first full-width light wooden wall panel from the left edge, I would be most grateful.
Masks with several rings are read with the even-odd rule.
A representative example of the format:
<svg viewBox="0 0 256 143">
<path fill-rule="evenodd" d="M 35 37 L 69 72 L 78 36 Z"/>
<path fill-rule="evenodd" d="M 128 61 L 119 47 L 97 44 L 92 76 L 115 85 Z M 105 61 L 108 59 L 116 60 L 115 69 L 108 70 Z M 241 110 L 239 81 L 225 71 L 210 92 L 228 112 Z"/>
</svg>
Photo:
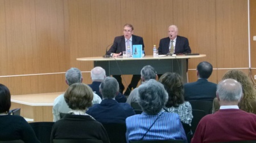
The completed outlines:
<svg viewBox="0 0 256 143">
<path fill-rule="evenodd" d="M 5 1 L 7 33 L 7 74 L 36 73 L 35 1 Z M 33 68 L 35 67 L 35 68 Z"/>
</svg>

